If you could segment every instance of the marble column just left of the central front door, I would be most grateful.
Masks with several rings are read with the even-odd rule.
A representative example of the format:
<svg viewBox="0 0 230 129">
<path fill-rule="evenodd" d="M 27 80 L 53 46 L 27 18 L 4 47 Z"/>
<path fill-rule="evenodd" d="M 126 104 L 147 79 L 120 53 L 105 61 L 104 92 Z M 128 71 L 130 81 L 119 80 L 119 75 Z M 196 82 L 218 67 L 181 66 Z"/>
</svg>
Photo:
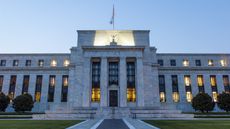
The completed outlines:
<svg viewBox="0 0 230 129">
<path fill-rule="evenodd" d="M 108 61 L 106 57 L 101 58 L 101 75 L 100 75 L 101 100 L 100 106 L 106 107 L 108 92 Z"/>
</svg>

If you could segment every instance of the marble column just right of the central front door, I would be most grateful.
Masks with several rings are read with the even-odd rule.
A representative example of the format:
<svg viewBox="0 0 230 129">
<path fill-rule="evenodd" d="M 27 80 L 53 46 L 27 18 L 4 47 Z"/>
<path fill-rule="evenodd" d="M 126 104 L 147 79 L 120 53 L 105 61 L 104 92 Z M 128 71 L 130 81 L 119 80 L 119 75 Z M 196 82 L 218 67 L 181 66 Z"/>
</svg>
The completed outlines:
<svg viewBox="0 0 230 129">
<path fill-rule="evenodd" d="M 120 107 L 127 107 L 127 70 L 126 58 L 121 57 L 119 63 Z"/>
</svg>

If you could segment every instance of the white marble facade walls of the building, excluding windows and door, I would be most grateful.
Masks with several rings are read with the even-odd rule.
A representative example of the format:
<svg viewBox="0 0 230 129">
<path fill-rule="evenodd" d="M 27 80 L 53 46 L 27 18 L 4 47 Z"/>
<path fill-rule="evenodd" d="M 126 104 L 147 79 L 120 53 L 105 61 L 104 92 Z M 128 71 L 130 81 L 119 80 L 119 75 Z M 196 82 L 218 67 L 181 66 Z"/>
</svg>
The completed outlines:
<svg viewBox="0 0 230 129">
<path fill-rule="evenodd" d="M 114 42 L 113 37 L 114 36 Z M 0 54 L 0 90 L 9 94 L 11 76 L 16 76 L 14 97 L 22 94 L 23 77 L 29 76 L 28 93 L 35 99 L 36 78 L 42 76 L 40 101 L 36 101 L 33 111 L 44 112 L 59 108 L 101 108 L 110 107 L 110 91 L 117 91 L 117 107 L 158 107 L 176 108 L 182 111 L 193 111 L 191 103 L 187 101 L 184 77 L 191 79 L 191 93 L 198 92 L 197 75 L 202 75 L 204 92 L 212 96 L 210 76 L 215 75 L 217 93 L 226 91 L 223 76 L 230 76 L 230 54 L 176 54 L 156 53 L 156 48 L 150 46 L 148 30 L 106 31 L 80 30 L 78 31 L 77 46 L 66 54 Z M 100 62 L 100 100 L 92 102 L 92 61 Z M 127 60 L 135 62 L 136 101 L 127 101 Z M 5 61 L 4 61 L 5 60 Z M 16 61 L 16 65 L 13 64 Z M 26 60 L 31 65 L 26 66 Z M 39 60 L 44 61 L 39 66 Z M 55 60 L 56 65 L 51 66 Z M 109 85 L 109 62 L 118 63 L 118 85 Z M 171 60 L 174 60 L 175 66 Z M 189 66 L 183 66 L 184 60 Z M 200 60 L 201 66 L 196 65 Z M 208 65 L 211 61 L 211 66 Z M 67 61 L 67 64 L 65 64 Z M 68 61 L 70 64 L 68 64 Z M 161 65 L 159 65 L 159 62 Z M 179 101 L 173 101 L 172 75 L 178 78 Z M 55 76 L 53 100 L 49 100 L 50 76 Z M 67 99 L 63 99 L 63 76 L 68 76 Z M 159 76 L 164 76 L 164 99 L 160 102 Z M 229 83 L 229 80 L 228 80 Z M 229 84 L 228 84 L 229 85 Z M 48 101 L 49 100 L 49 101 Z M 216 109 L 218 110 L 218 109 Z M 12 111 L 9 107 L 8 111 Z"/>
</svg>

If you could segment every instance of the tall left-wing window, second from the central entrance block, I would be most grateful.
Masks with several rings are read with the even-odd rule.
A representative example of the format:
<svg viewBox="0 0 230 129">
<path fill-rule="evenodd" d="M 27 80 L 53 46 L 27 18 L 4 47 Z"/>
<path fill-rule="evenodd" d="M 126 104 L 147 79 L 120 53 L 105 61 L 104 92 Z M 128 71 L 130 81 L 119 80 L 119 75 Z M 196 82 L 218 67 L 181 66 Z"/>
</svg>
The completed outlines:
<svg viewBox="0 0 230 129">
<path fill-rule="evenodd" d="M 48 89 L 48 102 L 54 101 L 54 90 L 55 90 L 55 84 L 56 84 L 55 78 L 56 78 L 55 75 L 50 75 L 49 89 Z"/>
</svg>

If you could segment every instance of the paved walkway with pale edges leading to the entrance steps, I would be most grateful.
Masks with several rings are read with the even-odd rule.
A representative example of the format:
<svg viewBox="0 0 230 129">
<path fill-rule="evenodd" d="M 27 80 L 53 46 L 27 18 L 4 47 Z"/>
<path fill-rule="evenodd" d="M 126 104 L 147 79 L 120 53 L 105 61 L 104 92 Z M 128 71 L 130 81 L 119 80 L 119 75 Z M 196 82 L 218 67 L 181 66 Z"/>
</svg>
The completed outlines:
<svg viewBox="0 0 230 129">
<path fill-rule="evenodd" d="M 159 129 L 136 119 L 87 120 L 67 129 Z"/>
</svg>

